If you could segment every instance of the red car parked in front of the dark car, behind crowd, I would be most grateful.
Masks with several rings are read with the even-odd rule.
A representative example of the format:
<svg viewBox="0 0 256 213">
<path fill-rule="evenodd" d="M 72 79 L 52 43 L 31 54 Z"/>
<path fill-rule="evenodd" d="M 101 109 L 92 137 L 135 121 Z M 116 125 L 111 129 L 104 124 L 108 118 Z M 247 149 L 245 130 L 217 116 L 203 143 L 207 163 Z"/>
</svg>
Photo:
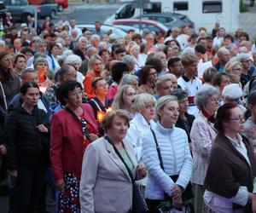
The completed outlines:
<svg viewBox="0 0 256 213">
<path fill-rule="evenodd" d="M 124 25 L 124 26 L 133 26 L 140 28 L 140 20 L 134 19 L 134 20 L 114 20 L 113 26 L 117 25 Z M 147 28 L 149 31 L 156 32 L 156 33 L 165 33 L 168 31 L 168 27 L 164 26 L 160 22 L 157 22 L 155 20 L 142 20 L 142 29 Z"/>
</svg>

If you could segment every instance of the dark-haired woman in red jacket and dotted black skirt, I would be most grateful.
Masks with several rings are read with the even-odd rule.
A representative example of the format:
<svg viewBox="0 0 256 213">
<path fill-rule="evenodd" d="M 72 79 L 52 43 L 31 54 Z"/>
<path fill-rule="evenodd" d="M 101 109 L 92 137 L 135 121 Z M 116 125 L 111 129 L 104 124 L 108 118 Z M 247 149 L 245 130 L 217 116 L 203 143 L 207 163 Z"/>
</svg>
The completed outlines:
<svg viewBox="0 0 256 213">
<path fill-rule="evenodd" d="M 67 81 L 58 90 L 66 105 L 51 118 L 50 160 L 60 189 L 58 212 L 79 212 L 79 181 L 85 148 L 98 138 L 98 127 L 89 104 L 82 104 L 81 84 Z"/>
</svg>

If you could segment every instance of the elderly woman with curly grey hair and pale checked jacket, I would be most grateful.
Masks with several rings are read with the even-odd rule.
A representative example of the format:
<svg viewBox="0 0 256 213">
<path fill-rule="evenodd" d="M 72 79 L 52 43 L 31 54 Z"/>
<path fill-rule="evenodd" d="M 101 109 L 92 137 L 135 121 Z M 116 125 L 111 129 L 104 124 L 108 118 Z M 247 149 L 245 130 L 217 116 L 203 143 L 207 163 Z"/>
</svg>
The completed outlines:
<svg viewBox="0 0 256 213">
<path fill-rule="evenodd" d="M 207 173 L 207 158 L 212 149 L 212 143 L 217 135 L 213 128 L 213 116 L 218 110 L 219 90 L 211 85 L 203 85 L 195 94 L 195 104 L 200 110 L 190 131 L 193 155 L 193 171 L 191 182 L 195 195 L 195 212 L 202 212 L 203 185 Z"/>
</svg>

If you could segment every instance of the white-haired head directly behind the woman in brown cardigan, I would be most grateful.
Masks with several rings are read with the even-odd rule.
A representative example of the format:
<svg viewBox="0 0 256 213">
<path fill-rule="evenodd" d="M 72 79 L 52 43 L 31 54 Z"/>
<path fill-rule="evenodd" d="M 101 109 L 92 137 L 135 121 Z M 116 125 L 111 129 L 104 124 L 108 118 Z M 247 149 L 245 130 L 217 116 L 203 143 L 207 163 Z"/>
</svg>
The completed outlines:
<svg viewBox="0 0 256 213">
<path fill-rule="evenodd" d="M 241 86 L 238 83 L 230 83 L 222 91 L 223 104 L 233 103 L 241 109 L 241 112 L 246 112 L 246 107 L 242 106 L 242 95 Z"/>
</svg>

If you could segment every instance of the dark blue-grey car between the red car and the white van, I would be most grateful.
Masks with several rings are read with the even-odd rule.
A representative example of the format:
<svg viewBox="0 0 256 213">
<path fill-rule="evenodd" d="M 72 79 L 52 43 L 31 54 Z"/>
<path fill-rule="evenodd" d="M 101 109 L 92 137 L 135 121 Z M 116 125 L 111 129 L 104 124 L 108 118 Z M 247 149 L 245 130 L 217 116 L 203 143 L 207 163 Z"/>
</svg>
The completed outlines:
<svg viewBox="0 0 256 213">
<path fill-rule="evenodd" d="M 189 18 L 184 14 L 177 13 L 152 13 L 152 14 L 143 14 L 143 20 L 156 20 L 167 26 L 168 28 L 172 28 L 174 26 L 192 26 L 194 27 L 193 21 L 189 20 Z M 139 16 L 136 17 L 139 19 Z"/>
</svg>

